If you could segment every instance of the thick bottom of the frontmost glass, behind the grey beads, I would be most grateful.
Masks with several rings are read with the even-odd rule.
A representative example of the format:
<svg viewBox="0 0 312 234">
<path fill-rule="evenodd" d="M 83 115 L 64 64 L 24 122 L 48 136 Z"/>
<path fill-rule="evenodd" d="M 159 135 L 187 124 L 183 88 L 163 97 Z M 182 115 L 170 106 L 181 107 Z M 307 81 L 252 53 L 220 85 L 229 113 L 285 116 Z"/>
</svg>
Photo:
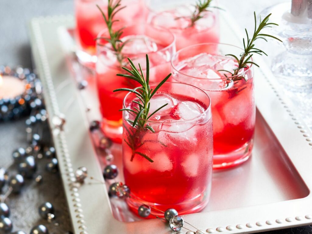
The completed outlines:
<svg viewBox="0 0 312 234">
<path fill-rule="evenodd" d="M 149 217 L 147 218 L 155 218 L 155 216 L 163 217 L 165 210 L 169 208 L 177 210 L 179 215 L 191 214 L 200 212 L 203 208 L 207 206 L 209 202 L 210 191 L 211 185 L 205 192 L 199 194 L 197 197 L 194 197 L 190 200 L 178 204 L 158 204 L 154 202 L 147 202 L 131 194 L 131 197 L 127 198 L 127 203 L 129 205 L 130 210 L 134 212 L 136 215 L 138 215 L 138 208 L 142 204 L 150 206 L 152 215 L 149 215 Z"/>
</svg>

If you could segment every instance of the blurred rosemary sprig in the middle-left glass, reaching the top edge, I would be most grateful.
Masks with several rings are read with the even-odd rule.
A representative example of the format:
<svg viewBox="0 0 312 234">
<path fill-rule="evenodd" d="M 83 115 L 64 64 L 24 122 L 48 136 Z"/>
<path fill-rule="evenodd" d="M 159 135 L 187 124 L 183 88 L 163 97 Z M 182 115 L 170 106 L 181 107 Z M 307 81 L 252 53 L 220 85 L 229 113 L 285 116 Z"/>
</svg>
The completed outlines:
<svg viewBox="0 0 312 234">
<path fill-rule="evenodd" d="M 121 27 L 120 29 L 116 31 L 113 30 L 113 24 L 119 21 L 119 20 L 114 19 L 115 15 L 117 14 L 117 12 L 121 11 L 122 9 L 126 7 L 126 6 L 121 7 L 120 2 L 121 0 L 117 0 L 116 3 L 114 3 L 114 0 L 108 0 L 107 17 L 105 16 L 104 12 L 99 7 L 99 5 L 96 5 L 99 8 L 100 12 L 102 13 L 106 26 L 108 28 L 108 32 L 110 34 L 110 37 L 98 37 L 96 39 L 104 39 L 105 41 L 109 42 L 113 50 L 116 52 L 116 56 L 117 56 L 117 60 L 119 64 L 122 65 L 124 56 L 122 55 L 121 51 L 124 45 L 126 44 L 126 42 L 122 42 L 120 40 L 120 37 L 123 34 L 124 27 Z"/>
</svg>

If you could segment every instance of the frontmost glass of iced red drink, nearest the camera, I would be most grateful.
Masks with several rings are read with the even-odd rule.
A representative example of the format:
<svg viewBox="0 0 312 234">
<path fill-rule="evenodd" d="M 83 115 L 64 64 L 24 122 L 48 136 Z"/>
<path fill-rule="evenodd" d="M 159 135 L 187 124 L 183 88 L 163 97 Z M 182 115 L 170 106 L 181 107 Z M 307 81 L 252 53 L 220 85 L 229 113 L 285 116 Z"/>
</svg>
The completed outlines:
<svg viewBox="0 0 312 234">
<path fill-rule="evenodd" d="M 129 93 L 124 108 L 133 109 L 135 99 Z M 197 212 L 209 200 L 212 180 L 209 96 L 192 85 L 165 83 L 150 103 L 149 113 L 168 103 L 148 120 L 155 133 L 132 127 L 128 120 L 134 116 L 123 111 L 124 178 L 131 190 L 128 204 L 134 212 L 140 202 L 162 211 L 174 208 L 179 214 Z M 135 147 L 129 147 L 128 141 L 134 141 Z M 145 154 L 154 162 L 133 152 Z M 151 212 L 163 216 L 153 208 Z"/>
</svg>

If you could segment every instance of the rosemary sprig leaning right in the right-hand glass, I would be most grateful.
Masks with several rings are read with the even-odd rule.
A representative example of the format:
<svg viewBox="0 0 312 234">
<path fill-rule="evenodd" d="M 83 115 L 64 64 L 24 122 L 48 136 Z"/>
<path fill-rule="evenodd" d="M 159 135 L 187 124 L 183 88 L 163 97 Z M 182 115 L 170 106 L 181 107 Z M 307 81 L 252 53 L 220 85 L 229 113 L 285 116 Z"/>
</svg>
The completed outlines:
<svg viewBox="0 0 312 234">
<path fill-rule="evenodd" d="M 253 36 L 250 38 L 248 36 L 247 29 L 245 28 L 245 32 L 246 32 L 247 38 L 246 38 L 246 40 L 245 40 L 245 38 L 243 38 L 244 52 L 242 52 L 240 54 L 240 58 L 238 58 L 238 56 L 235 56 L 233 54 L 227 54 L 226 55 L 226 56 L 232 56 L 238 63 L 238 67 L 233 69 L 234 72 L 227 71 L 227 72 L 231 73 L 231 75 L 232 75 L 231 79 L 232 80 L 235 81 L 235 80 L 241 80 L 242 78 L 244 78 L 244 77 L 240 77 L 240 76 L 237 76 L 237 75 L 238 75 L 239 71 L 241 71 L 241 69 L 247 68 L 249 66 L 248 64 L 254 64 L 255 66 L 259 67 L 258 64 L 256 64 L 255 62 L 251 61 L 251 58 L 252 58 L 252 56 L 254 54 L 259 54 L 261 56 L 262 55 L 268 56 L 264 51 L 262 51 L 261 49 L 258 49 L 258 48 L 255 47 L 254 42 L 257 39 L 263 39 L 263 40 L 267 41 L 266 37 L 271 37 L 271 38 L 273 38 L 275 40 L 281 41 L 277 37 L 274 37 L 274 36 L 269 35 L 269 34 L 261 33 L 261 30 L 264 29 L 264 28 L 272 27 L 272 25 L 278 26 L 278 24 L 276 24 L 276 23 L 269 23 L 268 22 L 270 16 L 271 16 L 271 14 L 267 15 L 262 21 L 261 21 L 261 17 L 260 17 L 260 24 L 257 27 L 256 12 L 254 12 L 255 29 L 254 29 L 254 32 L 253 32 Z M 219 70 L 219 71 L 226 71 L 226 70 Z"/>
</svg>

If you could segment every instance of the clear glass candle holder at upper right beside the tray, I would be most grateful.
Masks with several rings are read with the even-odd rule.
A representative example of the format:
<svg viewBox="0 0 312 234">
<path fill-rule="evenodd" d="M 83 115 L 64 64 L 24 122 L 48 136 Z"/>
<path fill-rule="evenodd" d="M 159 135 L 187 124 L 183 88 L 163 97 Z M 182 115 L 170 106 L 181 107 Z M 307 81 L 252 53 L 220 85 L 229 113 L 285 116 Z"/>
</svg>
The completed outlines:
<svg viewBox="0 0 312 234">
<path fill-rule="evenodd" d="M 283 39 L 286 50 L 272 61 L 272 71 L 286 89 L 307 92 L 312 88 L 312 1 L 296 0 L 268 7 L 261 17 L 270 17 L 279 27 L 270 33 Z"/>
</svg>

